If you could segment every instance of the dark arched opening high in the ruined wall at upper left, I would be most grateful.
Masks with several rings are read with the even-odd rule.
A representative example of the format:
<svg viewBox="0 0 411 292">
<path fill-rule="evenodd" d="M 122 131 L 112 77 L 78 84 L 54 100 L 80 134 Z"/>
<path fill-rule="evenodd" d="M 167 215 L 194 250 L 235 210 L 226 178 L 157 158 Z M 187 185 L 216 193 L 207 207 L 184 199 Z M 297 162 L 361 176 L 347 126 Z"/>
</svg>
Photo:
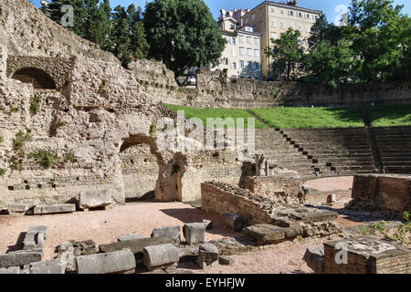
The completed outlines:
<svg viewBox="0 0 411 292">
<path fill-rule="evenodd" d="M 21 68 L 13 75 L 13 79 L 23 83 L 31 83 L 35 89 L 56 89 L 56 83 L 46 71 L 39 68 Z"/>
</svg>

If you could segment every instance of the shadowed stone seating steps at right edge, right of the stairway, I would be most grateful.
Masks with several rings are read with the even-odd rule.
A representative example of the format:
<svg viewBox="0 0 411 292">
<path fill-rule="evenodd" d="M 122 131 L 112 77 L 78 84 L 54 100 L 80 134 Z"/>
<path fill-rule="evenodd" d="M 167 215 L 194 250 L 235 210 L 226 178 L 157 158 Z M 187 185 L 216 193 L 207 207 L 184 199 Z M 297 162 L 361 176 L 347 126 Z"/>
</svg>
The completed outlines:
<svg viewBox="0 0 411 292">
<path fill-rule="evenodd" d="M 385 172 L 411 173 L 411 127 L 374 128 Z"/>
</svg>

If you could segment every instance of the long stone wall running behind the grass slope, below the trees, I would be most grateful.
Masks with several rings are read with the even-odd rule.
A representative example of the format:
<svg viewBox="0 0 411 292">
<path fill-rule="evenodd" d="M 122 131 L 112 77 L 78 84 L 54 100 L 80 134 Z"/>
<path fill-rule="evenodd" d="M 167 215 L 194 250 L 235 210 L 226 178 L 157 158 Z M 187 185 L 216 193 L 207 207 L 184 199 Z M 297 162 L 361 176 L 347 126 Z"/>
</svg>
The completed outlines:
<svg viewBox="0 0 411 292">
<path fill-rule="evenodd" d="M 346 85 L 332 89 L 319 84 L 262 81 L 238 78 L 231 81 L 226 71 L 199 71 L 196 75 L 199 94 L 218 96 L 233 108 L 270 107 L 277 105 L 346 105 L 401 103 L 411 101 L 411 83 L 375 83 Z M 216 107 L 216 100 L 208 103 Z"/>
</svg>

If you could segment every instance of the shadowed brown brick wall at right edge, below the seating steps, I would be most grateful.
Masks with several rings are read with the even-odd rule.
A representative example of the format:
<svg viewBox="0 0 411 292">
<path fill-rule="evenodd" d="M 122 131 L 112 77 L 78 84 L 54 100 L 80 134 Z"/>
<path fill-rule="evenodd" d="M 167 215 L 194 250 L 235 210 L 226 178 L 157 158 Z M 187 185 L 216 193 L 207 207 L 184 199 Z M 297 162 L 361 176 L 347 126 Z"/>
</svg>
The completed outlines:
<svg viewBox="0 0 411 292">
<path fill-rule="evenodd" d="M 411 178 L 406 175 L 356 175 L 350 208 L 411 213 Z"/>
</svg>

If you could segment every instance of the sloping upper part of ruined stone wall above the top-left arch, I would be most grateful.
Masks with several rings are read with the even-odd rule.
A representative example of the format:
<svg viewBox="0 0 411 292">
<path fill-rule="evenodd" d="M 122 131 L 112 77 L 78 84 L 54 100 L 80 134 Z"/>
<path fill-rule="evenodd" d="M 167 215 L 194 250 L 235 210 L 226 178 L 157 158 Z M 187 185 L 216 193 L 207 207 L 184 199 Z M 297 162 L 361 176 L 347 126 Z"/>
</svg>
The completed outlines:
<svg viewBox="0 0 411 292">
<path fill-rule="evenodd" d="M 120 64 L 111 53 L 59 26 L 26 0 L 2 0 L 0 12 L 0 43 L 9 55 L 82 56 Z"/>
</svg>

